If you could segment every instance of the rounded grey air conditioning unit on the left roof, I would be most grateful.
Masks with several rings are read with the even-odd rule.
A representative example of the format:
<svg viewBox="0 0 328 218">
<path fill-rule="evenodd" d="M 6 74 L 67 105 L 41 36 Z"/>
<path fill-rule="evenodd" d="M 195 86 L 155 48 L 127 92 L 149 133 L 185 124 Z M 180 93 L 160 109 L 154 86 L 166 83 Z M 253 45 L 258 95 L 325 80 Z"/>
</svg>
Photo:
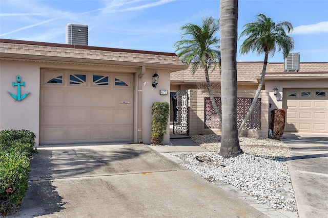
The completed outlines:
<svg viewBox="0 0 328 218">
<path fill-rule="evenodd" d="M 66 25 L 66 44 L 88 45 L 88 26 L 80 23 Z"/>
</svg>

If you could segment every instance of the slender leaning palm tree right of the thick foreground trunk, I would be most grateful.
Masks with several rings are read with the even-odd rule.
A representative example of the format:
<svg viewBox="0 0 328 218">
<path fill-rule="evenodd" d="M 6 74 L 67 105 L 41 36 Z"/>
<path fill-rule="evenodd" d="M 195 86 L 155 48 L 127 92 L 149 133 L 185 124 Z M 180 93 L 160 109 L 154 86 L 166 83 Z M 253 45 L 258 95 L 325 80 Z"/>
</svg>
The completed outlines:
<svg viewBox="0 0 328 218">
<path fill-rule="evenodd" d="M 243 36 L 247 36 L 247 38 L 240 46 L 240 53 L 246 54 L 252 51 L 256 52 L 257 55 L 264 53 L 265 56 L 260 83 L 258 84 L 253 102 L 239 127 L 239 133 L 254 110 L 262 89 L 269 54 L 273 57 L 276 51 L 282 51 L 283 58 L 286 58 L 289 52 L 294 49 L 294 39 L 287 35 L 287 33 L 293 31 L 293 25 L 288 21 L 280 21 L 276 24 L 270 17 L 266 17 L 264 14 L 258 14 L 256 21 L 247 23 L 243 26 L 243 29 L 239 39 Z"/>
</svg>

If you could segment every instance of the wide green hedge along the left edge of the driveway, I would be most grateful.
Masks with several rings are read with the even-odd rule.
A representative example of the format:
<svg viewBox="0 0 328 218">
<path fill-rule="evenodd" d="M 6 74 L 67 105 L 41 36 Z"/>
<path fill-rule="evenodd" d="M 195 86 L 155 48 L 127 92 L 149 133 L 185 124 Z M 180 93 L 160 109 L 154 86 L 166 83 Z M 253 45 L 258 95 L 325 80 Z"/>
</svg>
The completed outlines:
<svg viewBox="0 0 328 218">
<path fill-rule="evenodd" d="M 29 130 L 0 131 L 0 214 L 18 211 L 28 189 L 30 158 L 36 153 Z"/>
</svg>

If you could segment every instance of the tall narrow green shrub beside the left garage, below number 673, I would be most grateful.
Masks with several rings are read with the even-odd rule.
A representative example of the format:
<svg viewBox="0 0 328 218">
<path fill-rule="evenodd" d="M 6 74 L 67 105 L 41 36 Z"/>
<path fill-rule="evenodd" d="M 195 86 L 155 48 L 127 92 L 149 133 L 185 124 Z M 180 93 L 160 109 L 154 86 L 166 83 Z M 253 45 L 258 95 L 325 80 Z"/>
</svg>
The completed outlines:
<svg viewBox="0 0 328 218">
<path fill-rule="evenodd" d="M 152 105 L 151 142 L 159 144 L 163 141 L 168 126 L 170 105 L 168 102 L 155 102 Z"/>
</svg>

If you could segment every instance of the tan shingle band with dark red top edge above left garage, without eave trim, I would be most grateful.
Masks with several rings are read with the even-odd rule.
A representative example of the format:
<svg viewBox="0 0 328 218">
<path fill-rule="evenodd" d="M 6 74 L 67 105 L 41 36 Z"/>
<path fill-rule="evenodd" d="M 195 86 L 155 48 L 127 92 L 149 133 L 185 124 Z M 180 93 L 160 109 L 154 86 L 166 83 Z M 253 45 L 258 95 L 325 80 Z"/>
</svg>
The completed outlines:
<svg viewBox="0 0 328 218">
<path fill-rule="evenodd" d="M 53 58 L 83 58 L 103 61 L 122 61 L 149 64 L 181 65 L 179 69 L 186 68 L 175 53 L 150 52 L 139 50 L 113 49 L 107 47 L 94 47 L 83 45 L 56 44 L 45 42 L 19 41 L 0 39 L 0 53 L 17 55 L 43 56 Z M 139 64 L 140 65 L 140 64 Z"/>
</svg>

